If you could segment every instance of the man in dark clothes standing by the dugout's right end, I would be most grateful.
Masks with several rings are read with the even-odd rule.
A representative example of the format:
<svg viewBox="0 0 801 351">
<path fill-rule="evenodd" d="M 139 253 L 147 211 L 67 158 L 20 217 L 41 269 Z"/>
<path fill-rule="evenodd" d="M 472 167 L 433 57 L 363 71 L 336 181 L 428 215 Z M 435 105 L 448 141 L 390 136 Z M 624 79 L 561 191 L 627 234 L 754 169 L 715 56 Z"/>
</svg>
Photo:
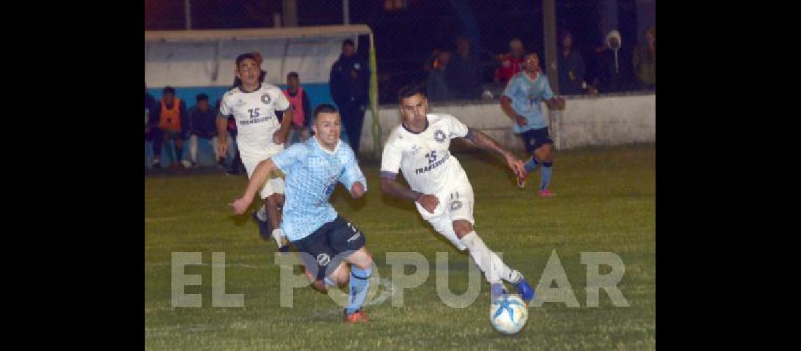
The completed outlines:
<svg viewBox="0 0 801 351">
<path fill-rule="evenodd" d="M 364 110 L 370 102 L 370 70 L 367 60 L 356 54 L 356 46 L 351 39 L 342 42 L 342 54 L 331 67 L 329 87 L 340 109 L 348 143 L 358 158 Z"/>
</svg>

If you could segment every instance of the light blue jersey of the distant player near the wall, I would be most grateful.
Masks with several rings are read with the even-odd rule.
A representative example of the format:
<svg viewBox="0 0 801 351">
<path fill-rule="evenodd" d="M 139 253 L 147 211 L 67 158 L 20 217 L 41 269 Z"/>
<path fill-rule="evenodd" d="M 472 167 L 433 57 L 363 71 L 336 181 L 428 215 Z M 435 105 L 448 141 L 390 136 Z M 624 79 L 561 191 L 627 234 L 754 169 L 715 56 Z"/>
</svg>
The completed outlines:
<svg viewBox="0 0 801 351">
<path fill-rule="evenodd" d="M 543 99 L 553 98 L 553 91 L 550 90 L 550 84 L 545 74 L 539 74 L 537 79 L 532 81 L 525 71 L 521 71 L 509 79 L 509 84 L 506 85 L 503 94 L 512 99 L 512 109 L 528 122 L 525 126 L 518 126 L 515 123 L 513 126 L 515 133 L 538 130 L 548 126 L 542 115 L 540 104 Z"/>
</svg>

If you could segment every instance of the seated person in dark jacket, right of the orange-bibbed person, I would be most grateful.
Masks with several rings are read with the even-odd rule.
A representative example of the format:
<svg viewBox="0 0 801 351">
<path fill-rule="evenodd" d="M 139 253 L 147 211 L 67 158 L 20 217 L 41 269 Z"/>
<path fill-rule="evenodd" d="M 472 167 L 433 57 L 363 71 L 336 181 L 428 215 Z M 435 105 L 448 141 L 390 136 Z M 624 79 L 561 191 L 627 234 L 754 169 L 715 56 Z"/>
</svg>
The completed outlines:
<svg viewBox="0 0 801 351">
<path fill-rule="evenodd" d="M 203 142 L 214 150 L 214 159 L 219 159 L 217 148 L 217 111 L 211 110 L 208 95 L 198 94 L 196 105 L 187 114 L 189 129 L 189 160 L 183 160 L 184 167 L 195 166 L 198 162 L 198 142 Z"/>
</svg>

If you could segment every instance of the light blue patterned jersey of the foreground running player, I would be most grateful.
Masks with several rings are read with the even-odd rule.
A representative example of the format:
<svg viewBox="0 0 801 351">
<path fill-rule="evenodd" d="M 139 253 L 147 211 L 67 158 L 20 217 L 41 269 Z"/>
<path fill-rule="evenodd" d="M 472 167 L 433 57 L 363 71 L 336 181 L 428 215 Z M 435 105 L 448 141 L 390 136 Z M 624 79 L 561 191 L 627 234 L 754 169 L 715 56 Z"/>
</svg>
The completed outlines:
<svg viewBox="0 0 801 351">
<path fill-rule="evenodd" d="M 333 151 L 324 150 L 316 138 L 290 146 L 272 157 L 272 162 L 286 174 L 286 201 L 281 229 L 289 241 L 298 241 L 336 219 L 336 210 L 328 202 L 340 181 L 348 193 L 360 181 L 367 191 L 367 180 L 359 169 L 356 155 L 347 144 L 337 142 Z"/>
</svg>

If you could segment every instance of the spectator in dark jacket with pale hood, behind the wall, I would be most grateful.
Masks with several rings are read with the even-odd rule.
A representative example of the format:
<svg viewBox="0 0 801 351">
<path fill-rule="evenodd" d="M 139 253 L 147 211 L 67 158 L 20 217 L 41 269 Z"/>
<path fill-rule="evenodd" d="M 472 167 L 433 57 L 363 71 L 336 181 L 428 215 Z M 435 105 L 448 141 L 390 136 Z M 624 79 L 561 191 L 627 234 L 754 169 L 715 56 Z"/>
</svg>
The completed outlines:
<svg viewBox="0 0 801 351">
<path fill-rule="evenodd" d="M 634 72 L 632 55 L 629 49 L 622 47 L 620 32 L 610 30 L 606 34 L 606 48 L 598 59 L 596 84 L 601 93 L 618 93 L 634 90 Z"/>
</svg>

